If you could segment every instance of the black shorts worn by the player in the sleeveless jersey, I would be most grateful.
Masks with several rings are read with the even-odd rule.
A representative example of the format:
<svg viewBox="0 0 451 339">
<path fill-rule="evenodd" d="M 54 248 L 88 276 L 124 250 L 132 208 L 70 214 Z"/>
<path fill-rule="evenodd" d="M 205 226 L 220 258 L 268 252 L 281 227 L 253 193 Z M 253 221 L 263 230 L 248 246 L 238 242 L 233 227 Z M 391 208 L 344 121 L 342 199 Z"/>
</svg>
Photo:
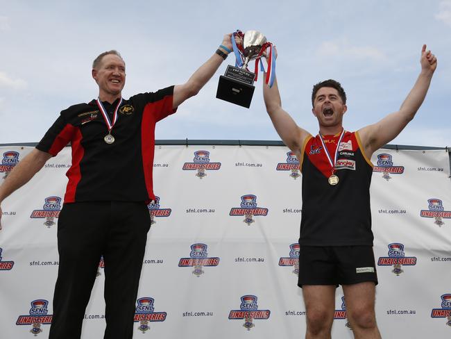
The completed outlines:
<svg viewBox="0 0 451 339">
<path fill-rule="evenodd" d="M 374 281 L 377 285 L 373 247 L 300 247 L 299 287 L 350 285 L 364 281 Z"/>
</svg>

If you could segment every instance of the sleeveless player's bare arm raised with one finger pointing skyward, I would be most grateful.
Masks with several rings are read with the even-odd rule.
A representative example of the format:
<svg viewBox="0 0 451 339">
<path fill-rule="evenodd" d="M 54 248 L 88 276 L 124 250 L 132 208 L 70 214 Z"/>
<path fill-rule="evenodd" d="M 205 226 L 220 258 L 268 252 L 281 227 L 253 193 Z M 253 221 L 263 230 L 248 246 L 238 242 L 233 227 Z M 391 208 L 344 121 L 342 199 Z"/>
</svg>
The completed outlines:
<svg viewBox="0 0 451 339">
<path fill-rule="evenodd" d="M 421 72 L 414 87 L 407 95 L 398 112 L 391 113 L 380 122 L 359 130 L 361 142 L 368 158 L 384 144 L 390 142 L 414 119 L 415 114 L 423 104 L 427 90 L 437 67 L 437 59 L 431 51 L 426 51 L 426 45 L 421 50 Z"/>
</svg>

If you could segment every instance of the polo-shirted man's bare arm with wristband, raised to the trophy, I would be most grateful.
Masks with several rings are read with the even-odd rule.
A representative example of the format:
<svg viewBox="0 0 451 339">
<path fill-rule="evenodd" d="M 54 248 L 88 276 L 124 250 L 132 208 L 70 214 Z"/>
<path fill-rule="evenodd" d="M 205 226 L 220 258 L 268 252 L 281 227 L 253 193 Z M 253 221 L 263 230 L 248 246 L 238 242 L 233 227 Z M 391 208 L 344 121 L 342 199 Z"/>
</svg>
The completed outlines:
<svg viewBox="0 0 451 339">
<path fill-rule="evenodd" d="M 226 47 L 229 51 L 232 50 L 232 33 L 224 35 L 222 46 Z M 219 49 L 228 55 L 228 51 L 219 47 Z M 196 72 L 188 79 L 188 81 L 182 85 L 176 85 L 173 92 L 173 108 L 178 107 L 183 101 L 194 97 L 203 88 L 205 83 L 212 78 L 213 74 L 219 68 L 221 63 L 224 61 L 222 56 L 214 53 L 210 59 L 208 59 L 201 67 L 199 67 Z"/>
</svg>

